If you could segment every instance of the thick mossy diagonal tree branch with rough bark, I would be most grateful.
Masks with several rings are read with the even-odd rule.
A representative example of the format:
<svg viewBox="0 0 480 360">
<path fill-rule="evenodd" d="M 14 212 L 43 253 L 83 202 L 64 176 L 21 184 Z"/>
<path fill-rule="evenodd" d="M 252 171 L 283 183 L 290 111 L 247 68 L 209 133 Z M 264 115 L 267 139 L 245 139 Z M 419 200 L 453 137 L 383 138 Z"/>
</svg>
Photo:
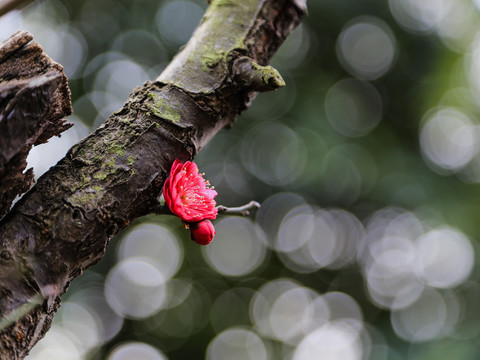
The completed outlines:
<svg viewBox="0 0 480 360">
<path fill-rule="evenodd" d="M 192 159 L 255 91 L 282 85 L 265 65 L 305 12 L 294 0 L 212 1 L 165 72 L 135 89 L 3 218 L 2 358 L 25 357 L 72 279 L 102 258 L 113 235 L 158 208 L 174 159 Z"/>
</svg>

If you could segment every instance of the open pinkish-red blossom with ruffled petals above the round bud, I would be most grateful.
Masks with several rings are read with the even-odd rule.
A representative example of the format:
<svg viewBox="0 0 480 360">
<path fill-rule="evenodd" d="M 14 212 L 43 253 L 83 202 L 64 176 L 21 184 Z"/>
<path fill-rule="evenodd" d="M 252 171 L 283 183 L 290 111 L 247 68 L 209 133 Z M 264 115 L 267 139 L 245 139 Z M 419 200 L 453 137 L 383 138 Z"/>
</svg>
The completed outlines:
<svg viewBox="0 0 480 360">
<path fill-rule="evenodd" d="M 198 173 L 195 163 L 187 161 L 182 164 L 175 160 L 170 177 L 163 186 L 163 197 L 170 210 L 183 221 L 215 219 L 217 208 L 213 198 L 217 196 L 217 192 L 208 188 L 208 185 L 209 182 Z"/>
</svg>

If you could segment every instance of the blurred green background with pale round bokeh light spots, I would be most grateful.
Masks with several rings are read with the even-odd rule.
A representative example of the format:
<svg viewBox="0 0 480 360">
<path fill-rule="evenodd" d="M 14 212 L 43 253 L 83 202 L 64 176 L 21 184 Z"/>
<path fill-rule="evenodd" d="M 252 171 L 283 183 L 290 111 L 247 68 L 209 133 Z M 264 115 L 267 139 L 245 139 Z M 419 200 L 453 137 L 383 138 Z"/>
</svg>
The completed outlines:
<svg viewBox="0 0 480 360">
<path fill-rule="evenodd" d="M 70 79 L 75 126 L 41 175 L 155 79 L 201 0 L 45 0 L 0 17 Z M 480 1 L 310 0 L 272 61 L 287 86 L 196 161 L 207 247 L 147 216 L 63 297 L 39 359 L 480 358 Z"/>
</svg>

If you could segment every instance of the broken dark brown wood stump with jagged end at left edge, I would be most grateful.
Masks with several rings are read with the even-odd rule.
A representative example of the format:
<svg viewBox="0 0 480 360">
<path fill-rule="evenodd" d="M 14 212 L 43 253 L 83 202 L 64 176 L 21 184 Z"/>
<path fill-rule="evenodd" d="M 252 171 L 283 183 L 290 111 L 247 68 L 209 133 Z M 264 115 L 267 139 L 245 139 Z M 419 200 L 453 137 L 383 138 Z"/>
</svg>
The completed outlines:
<svg viewBox="0 0 480 360">
<path fill-rule="evenodd" d="M 70 126 L 72 111 L 63 68 L 32 35 L 17 32 L 0 45 L 0 218 L 33 181 L 26 158 L 32 145 Z"/>
</svg>

